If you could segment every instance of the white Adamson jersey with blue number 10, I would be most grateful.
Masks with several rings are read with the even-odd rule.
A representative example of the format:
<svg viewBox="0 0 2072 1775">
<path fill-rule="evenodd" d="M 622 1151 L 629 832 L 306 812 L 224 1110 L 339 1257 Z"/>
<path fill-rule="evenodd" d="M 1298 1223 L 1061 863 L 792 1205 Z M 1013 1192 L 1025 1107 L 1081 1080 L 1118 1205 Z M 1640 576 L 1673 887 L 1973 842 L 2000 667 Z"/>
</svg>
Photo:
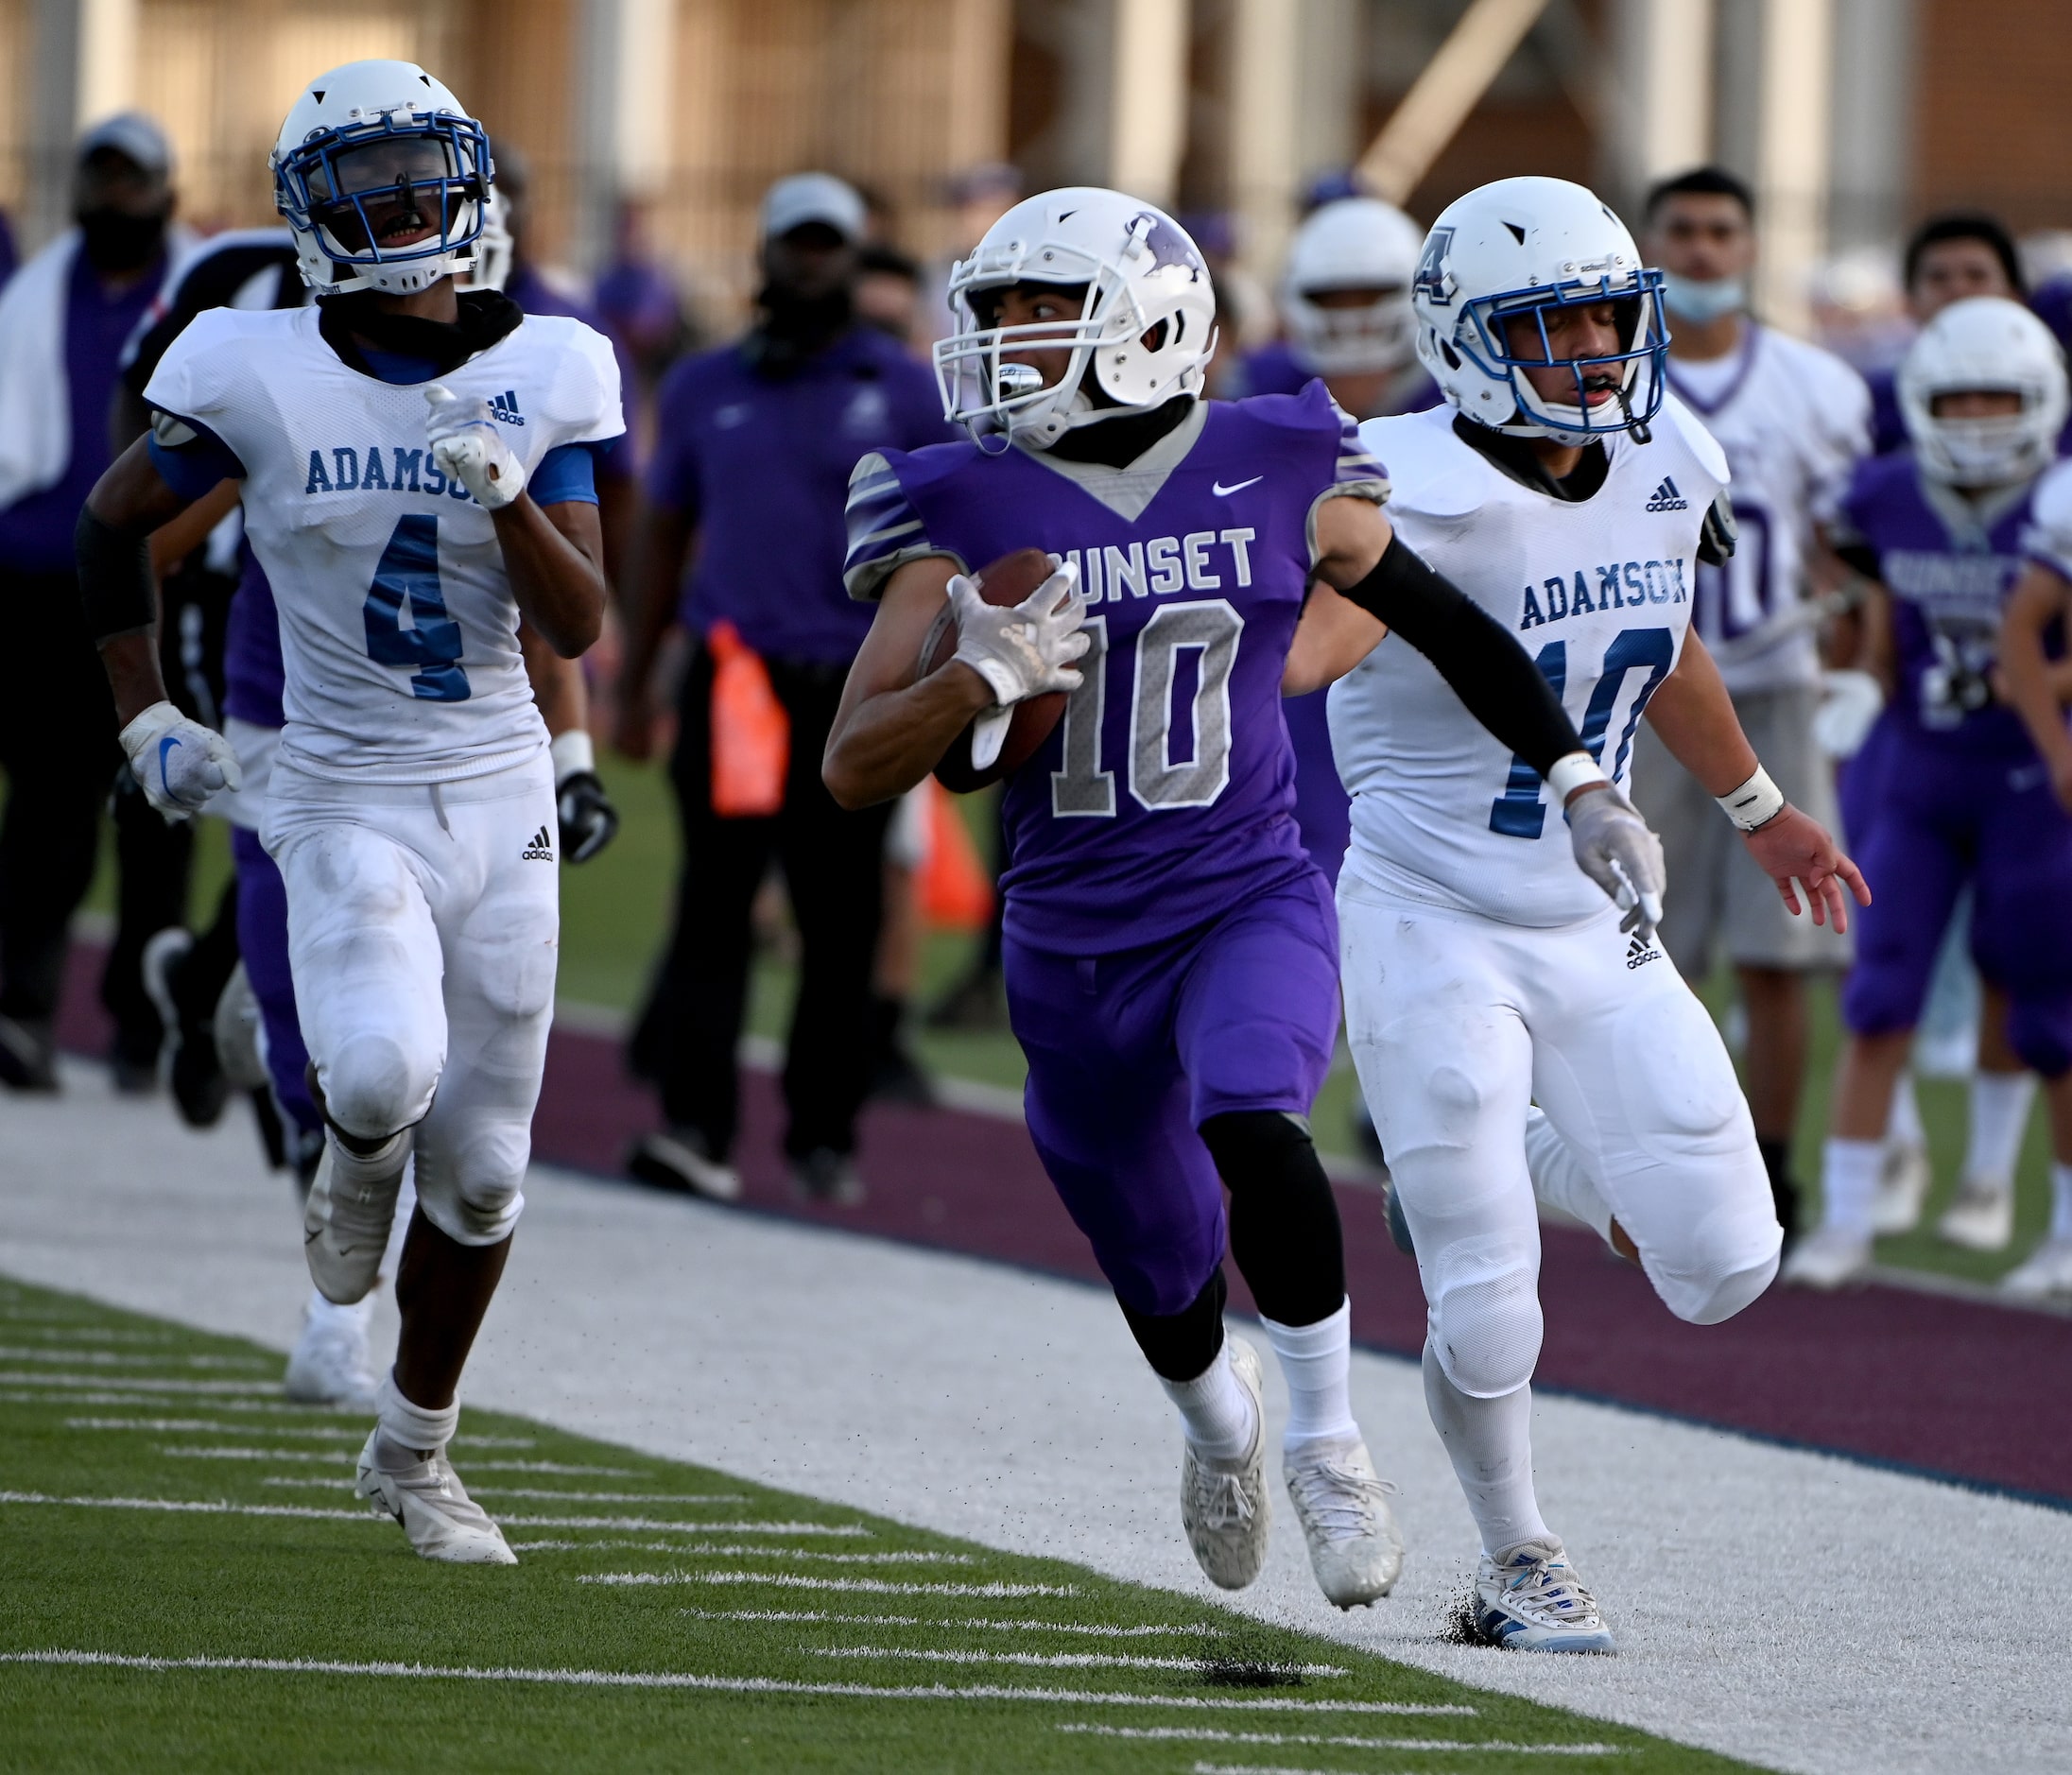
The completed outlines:
<svg viewBox="0 0 2072 1775">
<path fill-rule="evenodd" d="M 1388 470 L 1388 522 L 1537 659 L 1622 783 L 1641 710 L 1682 654 L 1699 530 L 1726 458 L 1670 396 L 1653 441 L 1608 439 L 1604 485 L 1571 503 L 1513 481 L 1455 435 L 1452 416 L 1442 406 L 1359 427 Z M 1409 642 L 1374 648 L 1328 708 L 1353 795 L 1347 874 L 1504 924 L 1573 924 L 1606 907 L 1539 773 Z"/>
</svg>

